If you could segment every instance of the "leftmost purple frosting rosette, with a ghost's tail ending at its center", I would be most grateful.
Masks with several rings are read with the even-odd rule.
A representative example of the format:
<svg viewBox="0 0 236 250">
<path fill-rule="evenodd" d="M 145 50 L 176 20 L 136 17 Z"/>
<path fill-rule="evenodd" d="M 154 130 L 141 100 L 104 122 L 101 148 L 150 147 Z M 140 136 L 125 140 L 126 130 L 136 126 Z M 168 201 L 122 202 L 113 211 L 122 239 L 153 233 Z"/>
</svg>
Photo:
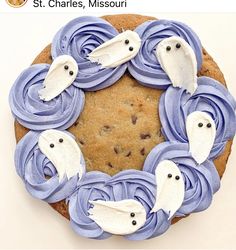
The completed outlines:
<svg viewBox="0 0 236 250">
<path fill-rule="evenodd" d="M 84 107 L 84 92 L 74 85 L 51 101 L 39 98 L 38 92 L 43 87 L 49 67 L 49 64 L 35 64 L 27 68 L 10 91 L 9 102 L 14 117 L 32 130 L 69 128 Z"/>
</svg>

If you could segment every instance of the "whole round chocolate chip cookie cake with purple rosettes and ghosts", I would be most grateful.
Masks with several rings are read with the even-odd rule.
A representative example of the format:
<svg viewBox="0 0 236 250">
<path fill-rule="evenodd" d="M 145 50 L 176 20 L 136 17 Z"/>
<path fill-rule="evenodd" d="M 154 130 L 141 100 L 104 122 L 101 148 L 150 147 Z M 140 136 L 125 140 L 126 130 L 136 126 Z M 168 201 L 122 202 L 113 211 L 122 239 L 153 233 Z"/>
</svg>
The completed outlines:
<svg viewBox="0 0 236 250">
<path fill-rule="evenodd" d="M 207 209 L 236 102 L 186 24 L 140 15 L 65 24 L 9 96 L 26 190 L 79 235 L 144 240 Z"/>
</svg>

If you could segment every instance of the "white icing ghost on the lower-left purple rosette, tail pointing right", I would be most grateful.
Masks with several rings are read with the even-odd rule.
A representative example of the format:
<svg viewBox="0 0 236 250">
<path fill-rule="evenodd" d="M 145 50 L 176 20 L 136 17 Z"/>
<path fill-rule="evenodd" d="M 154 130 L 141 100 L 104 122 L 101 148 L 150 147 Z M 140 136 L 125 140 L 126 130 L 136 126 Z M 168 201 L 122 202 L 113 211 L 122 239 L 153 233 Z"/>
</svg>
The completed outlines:
<svg viewBox="0 0 236 250">
<path fill-rule="evenodd" d="M 42 132 L 38 140 L 39 149 L 57 170 L 59 182 L 66 175 L 68 179 L 85 172 L 81 164 L 81 151 L 76 141 L 67 133 L 49 129 Z"/>
</svg>

